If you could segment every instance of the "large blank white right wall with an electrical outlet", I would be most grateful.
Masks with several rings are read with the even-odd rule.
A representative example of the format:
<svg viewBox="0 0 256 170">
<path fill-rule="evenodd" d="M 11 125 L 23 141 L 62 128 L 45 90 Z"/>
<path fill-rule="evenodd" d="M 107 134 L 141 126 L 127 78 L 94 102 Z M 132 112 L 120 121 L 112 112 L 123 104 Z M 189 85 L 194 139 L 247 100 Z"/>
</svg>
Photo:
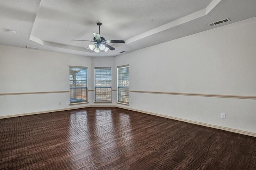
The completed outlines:
<svg viewBox="0 0 256 170">
<path fill-rule="evenodd" d="M 134 91 L 256 96 L 256 18 L 116 57 L 124 64 Z M 256 100 L 130 92 L 130 101 L 132 109 L 256 133 Z"/>
</svg>

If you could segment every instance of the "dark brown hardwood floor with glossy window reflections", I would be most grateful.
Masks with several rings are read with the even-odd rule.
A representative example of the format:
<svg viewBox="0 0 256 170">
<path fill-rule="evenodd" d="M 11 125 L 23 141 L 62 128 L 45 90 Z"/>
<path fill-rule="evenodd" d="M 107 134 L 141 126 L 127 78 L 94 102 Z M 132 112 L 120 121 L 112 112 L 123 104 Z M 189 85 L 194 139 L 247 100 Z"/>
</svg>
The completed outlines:
<svg viewBox="0 0 256 170">
<path fill-rule="evenodd" d="M 0 119 L 0 169 L 255 170 L 256 137 L 89 107 Z"/>
</svg>

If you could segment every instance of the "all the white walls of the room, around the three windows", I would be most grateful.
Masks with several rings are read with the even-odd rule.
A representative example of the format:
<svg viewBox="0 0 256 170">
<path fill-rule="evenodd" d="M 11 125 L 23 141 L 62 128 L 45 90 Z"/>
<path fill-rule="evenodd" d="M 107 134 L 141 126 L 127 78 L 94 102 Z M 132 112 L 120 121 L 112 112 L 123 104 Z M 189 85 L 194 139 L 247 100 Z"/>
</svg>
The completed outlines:
<svg viewBox="0 0 256 170">
<path fill-rule="evenodd" d="M 118 57 L 84 57 L 0 46 L 0 93 L 69 91 L 69 65 L 94 67 L 129 64 L 130 90 L 256 96 L 256 18 L 218 27 Z M 164 51 L 157 51 L 158 47 Z M 59 105 L 59 102 L 62 105 Z M 0 116 L 69 109 L 69 93 L 0 96 Z M 89 104 L 96 106 L 94 92 Z M 256 133 L 256 100 L 130 92 L 130 106 L 162 115 Z M 220 119 L 226 113 L 226 119 Z"/>
</svg>

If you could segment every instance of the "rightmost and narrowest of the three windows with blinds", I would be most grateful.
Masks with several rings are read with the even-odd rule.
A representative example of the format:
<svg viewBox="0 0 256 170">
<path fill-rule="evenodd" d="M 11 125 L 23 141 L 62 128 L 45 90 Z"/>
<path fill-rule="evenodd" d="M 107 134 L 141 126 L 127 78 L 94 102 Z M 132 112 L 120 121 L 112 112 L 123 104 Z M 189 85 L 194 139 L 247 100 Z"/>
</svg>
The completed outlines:
<svg viewBox="0 0 256 170">
<path fill-rule="evenodd" d="M 117 67 L 118 102 L 129 104 L 129 65 Z"/>
</svg>

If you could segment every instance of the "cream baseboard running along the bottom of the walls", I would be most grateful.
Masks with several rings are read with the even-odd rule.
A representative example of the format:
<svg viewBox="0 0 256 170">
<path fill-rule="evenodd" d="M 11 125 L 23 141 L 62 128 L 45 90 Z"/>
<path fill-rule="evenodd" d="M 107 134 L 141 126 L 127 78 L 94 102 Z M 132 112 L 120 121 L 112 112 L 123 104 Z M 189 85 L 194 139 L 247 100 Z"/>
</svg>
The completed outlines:
<svg viewBox="0 0 256 170">
<path fill-rule="evenodd" d="M 256 133 L 253 133 L 253 132 L 242 131 L 242 130 L 232 129 L 232 128 L 229 128 L 229 127 L 223 127 L 223 126 L 218 126 L 218 125 L 211 125 L 211 124 L 208 124 L 208 123 L 202 123 L 202 122 L 198 122 L 198 121 L 192 121 L 192 120 L 188 120 L 188 119 L 182 119 L 182 118 L 178 118 L 178 117 L 162 115 L 162 114 L 159 114 L 159 113 L 152 113 L 152 112 L 149 112 L 149 111 L 132 109 L 130 107 L 123 107 L 123 106 L 120 106 L 120 105 L 88 105 L 88 106 L 80 106 L 80 107 L 70 107 L 70 108 L 64 108 L 64 109 L 55 109 L 55 110 L 38 111 L 38 112 L 31 112 L 31 113 L 22 113 L 22 114 L 17 114 L 17 115 L 0 116 L 0 119 L 10 118 L 10 117 L 18 117 L 18 116 L 25 116 L 25 115 L 35 115 L 35 114 L 41 114 L 41 113 L 50 113 L 50 112 L 55 112 L 55 111 L 66 111 L 66 110 L 73 110 L 73 109 L 81 109 L 81 108 L 85 108 L 85 107 L 118 107 L 118 108 L 122 108 L 122 109 L 138 111 L 140 113 L 146 113 L 146 114 L 150 114 L 150 115 L 165 117 L 165 118 L 168 118 L 168 119 L 184 121 L 184 122 L 187 122 L 187 123 L 193 123 L 193 124 L 196 124 L 196 125 L 212 127 L 212 128 L 215 128 L 215 129 L 220 129 L 220 130 L 224 130 L 224 131 L 229 131 L 229 132 L 239 133 L 239 134 L 242 134 L 242 135 L 248 135 L 248 136 L 256 137 Z"/>
</svg>

